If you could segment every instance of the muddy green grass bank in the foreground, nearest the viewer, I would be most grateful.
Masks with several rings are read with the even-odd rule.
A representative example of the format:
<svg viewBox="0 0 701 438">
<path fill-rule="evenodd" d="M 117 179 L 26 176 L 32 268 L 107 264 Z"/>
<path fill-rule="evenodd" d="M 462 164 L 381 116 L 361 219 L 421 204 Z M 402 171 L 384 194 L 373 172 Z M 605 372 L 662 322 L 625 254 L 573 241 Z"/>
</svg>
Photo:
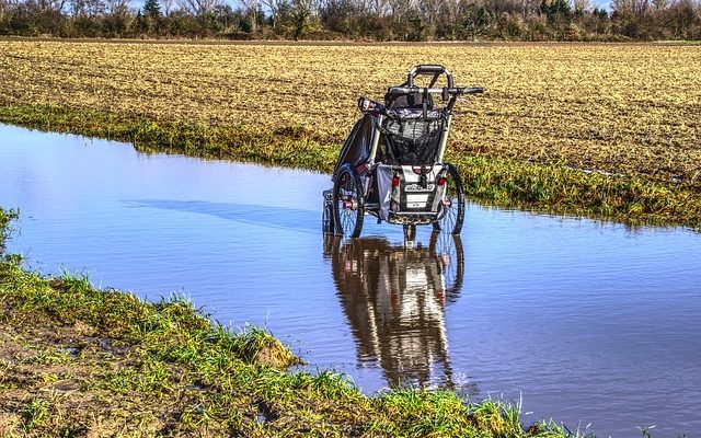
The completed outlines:
<svg viewBox="0 0 701 438">
<path fill-rule="evenodd" d="M 16 211 L 0 208 L 0 249 Z M 268 332 L 234 333 L 182 297 L 146 302 L 0 251 L 0 435 L 566 437 L 517 406 L 446 390 L 360 393 Z"/>
</svg>

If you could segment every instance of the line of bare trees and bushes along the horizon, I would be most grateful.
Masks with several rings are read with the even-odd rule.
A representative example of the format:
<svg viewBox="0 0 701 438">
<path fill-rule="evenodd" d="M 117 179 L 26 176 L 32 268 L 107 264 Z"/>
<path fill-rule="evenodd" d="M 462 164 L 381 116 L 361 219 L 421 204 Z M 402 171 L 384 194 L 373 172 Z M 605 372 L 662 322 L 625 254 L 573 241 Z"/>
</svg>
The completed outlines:
<svg viewBox="0 0 701 438">
<path fill-rule="evenodd" d="M 701 0 L 0 0 L 0 35 L 355 41 L 701 39 Z"/>
</svg>

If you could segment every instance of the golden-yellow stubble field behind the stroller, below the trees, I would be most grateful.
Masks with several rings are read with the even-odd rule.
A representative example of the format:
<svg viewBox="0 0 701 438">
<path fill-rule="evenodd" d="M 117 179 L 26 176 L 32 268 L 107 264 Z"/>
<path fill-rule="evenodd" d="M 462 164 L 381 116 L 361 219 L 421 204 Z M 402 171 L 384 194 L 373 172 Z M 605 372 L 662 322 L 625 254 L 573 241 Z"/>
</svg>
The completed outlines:
<svg viewBox="0 0 701 438">
<path fill-rule="evenodd" d="M 443 64 L 487 93 L 458 106 L 466 154 L 701 189 L 701 50 L 674 45 L 205 45 L 0 42 L 0 105 L 253 126 L 341 143 L 359 95 Z M 299 163 L 304 165 L 304 163 Z"/>
</svg>

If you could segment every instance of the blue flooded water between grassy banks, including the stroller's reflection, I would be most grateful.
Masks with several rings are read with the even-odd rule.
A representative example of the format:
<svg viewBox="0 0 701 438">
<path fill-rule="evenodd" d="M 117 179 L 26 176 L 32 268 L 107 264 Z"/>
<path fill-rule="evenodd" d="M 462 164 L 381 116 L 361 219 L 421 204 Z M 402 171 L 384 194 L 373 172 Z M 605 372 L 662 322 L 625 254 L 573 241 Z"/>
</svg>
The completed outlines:
<svg viewBox="0 0 701 438">
<path fill-rule="evenodd" d="M 0 125 L 10 250 L 150 300 L 185 293 L 267 327 L 367 393 L 446 385 L 522 399 L 598 436 L 701 430 L 701 235 L 470 205 L 462 238 L 366 221 L 321 235 L 327 175 L 137 153 Z"/>
</svg>

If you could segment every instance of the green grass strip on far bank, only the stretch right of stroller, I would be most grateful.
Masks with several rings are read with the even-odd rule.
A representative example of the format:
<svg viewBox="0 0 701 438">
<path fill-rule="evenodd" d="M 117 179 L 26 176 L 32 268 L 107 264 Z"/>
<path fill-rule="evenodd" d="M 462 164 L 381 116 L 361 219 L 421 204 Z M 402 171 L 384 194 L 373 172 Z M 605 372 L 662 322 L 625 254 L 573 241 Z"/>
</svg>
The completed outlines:
<svg viewBox="0 0 701 438">
<path fill-rule="evenodd" d="M 632 226 L 701 227 L 701 196 L 637 176 L 585 173 L 564 164 L 451 157 L 466 192 L 486 204 L 607 218 Z"/>
</svg>

